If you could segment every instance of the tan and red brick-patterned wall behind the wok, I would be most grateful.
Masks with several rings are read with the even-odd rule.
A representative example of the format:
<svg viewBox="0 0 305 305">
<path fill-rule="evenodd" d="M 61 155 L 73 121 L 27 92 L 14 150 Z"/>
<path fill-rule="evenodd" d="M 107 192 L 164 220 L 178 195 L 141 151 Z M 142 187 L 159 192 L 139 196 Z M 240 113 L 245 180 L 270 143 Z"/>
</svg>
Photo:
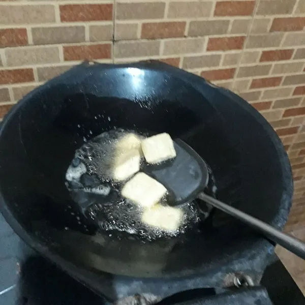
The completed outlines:
<svg viewBox="0 0 305 305">
<path fill-rule="evenodd" d="M 277 130 L 293 230 L 305 226 L 304 26 L 304 0 L 0 0 L 0 117 L 82 59 L 161 59 L 232 89 Z"/>
</svg>

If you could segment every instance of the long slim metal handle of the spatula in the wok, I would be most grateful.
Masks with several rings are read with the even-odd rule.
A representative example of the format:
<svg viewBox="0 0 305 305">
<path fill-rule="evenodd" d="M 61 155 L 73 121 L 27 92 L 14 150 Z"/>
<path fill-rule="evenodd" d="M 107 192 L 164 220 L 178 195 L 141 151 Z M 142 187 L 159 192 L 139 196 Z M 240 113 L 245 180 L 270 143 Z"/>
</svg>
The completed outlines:
<svg viewBox="0 0 305 305">
<path fill-rule="evenodd" d="M 243 223 L 263 233 L 263 235 L 278 243 L 283 248 L 289 250 L 298 257 L 305 259 L 305 243 L 301 240 L 292 237 L 291 235 L 288 235 L 276 228 L 273 228 L 270 225 L 204 193 L 200 193 L 198 198 L 239 219 Z"/>
</svg>

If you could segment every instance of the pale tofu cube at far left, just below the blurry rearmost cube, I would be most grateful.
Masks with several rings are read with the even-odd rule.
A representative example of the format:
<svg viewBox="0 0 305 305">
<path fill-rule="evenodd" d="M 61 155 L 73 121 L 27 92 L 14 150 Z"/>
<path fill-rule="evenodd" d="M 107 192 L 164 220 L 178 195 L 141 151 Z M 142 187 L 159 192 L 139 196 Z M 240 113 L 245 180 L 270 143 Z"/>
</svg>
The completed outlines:
<svg viewBox="0 0 305 305">
<path fill-rule="evenodd" d="M 113 164 L 113 179 L 126 180 L 140 170 L 140 153 L 138 149 L 116 153 Z"/>
</svg>

